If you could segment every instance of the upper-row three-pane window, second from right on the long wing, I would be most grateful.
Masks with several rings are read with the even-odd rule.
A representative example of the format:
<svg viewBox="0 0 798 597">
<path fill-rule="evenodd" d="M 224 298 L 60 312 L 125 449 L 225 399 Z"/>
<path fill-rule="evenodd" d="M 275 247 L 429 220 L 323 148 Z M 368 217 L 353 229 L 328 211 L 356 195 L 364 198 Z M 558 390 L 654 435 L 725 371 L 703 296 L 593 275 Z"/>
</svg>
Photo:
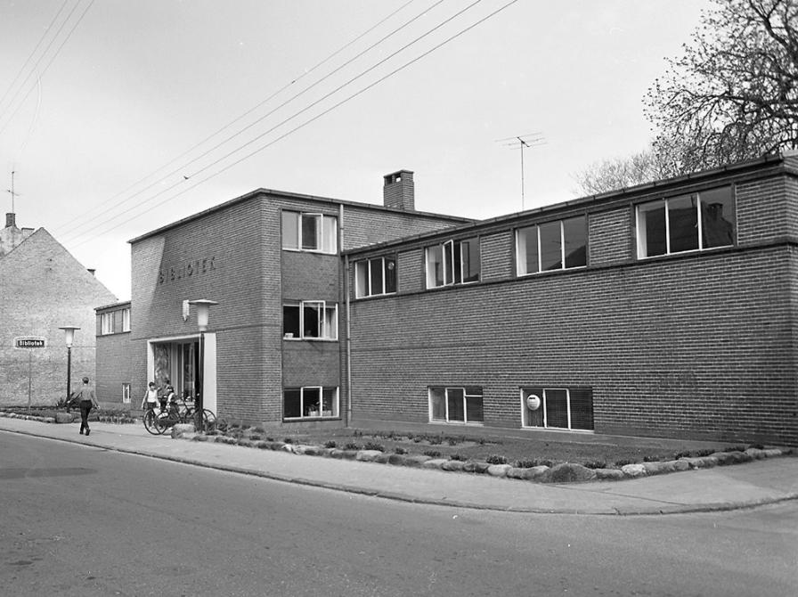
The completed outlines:
<svg viewBox="0 0 798 597">
<path fill-rule="evenodd" d="M 587 265 L 585 217 L 526 226 L 516 231 L 517 274 L 538 274 Z"/>
</svg>

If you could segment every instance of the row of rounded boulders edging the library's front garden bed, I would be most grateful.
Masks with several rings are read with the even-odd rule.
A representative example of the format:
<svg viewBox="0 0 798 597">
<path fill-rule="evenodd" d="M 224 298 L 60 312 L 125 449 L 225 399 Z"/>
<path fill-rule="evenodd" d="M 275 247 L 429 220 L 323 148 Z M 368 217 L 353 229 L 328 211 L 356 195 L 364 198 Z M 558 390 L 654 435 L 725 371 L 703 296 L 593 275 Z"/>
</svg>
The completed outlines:
<svg viewBox="0 0 798 597">
<path fill-rule="evenodd" d="M 741 464 L 764 458 L 774 458 L 791 454 L 791 450 L 779 448 L 748 448 L 744 452 L 732 450 L 715 452 L 708 456 L 681 457 L 678 460 L 658 462 L 635 462 L 625 464 L 620 469 L 589 469 L 576 462 L 562 462 L 553 466 L 534 466 L 528 469 L 513 467 L 510 464 L 490 464 L 480 461 L 456 461 L 445 458 L 432 458 L 424 454 L 391 454 L 379 450 L 346 450 L 338 447 L 312 446 L 306 444 L 287 444 L 281 441 L 232 438 L 225 435 L 206 435 L 195 433 L 192 425 L 175 425 L 173 439 L 187 439 L 197 442 L 210 442 L 243 446 L 261 450 L 273 450 L 307 456 L 322 456 L 339 460 L 358 462 L 377 462 L 394 466 L 406 466 L 427 470 L 485 474 L 495 478 L 512 478 L 538 483 L 583 483 L 588 481 L 620 481 L 629 478 L 652 477 L 684 470 L 709 469 L 715 466 Z"/>
</svg>

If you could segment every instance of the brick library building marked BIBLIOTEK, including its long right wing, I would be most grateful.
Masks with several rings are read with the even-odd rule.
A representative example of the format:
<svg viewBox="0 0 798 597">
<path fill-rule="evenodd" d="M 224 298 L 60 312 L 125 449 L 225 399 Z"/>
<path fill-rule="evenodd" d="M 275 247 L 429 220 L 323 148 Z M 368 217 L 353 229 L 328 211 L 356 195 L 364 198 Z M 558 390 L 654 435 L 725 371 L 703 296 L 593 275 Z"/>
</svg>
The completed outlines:
<svg viewBox="0 0 798 597">
<path fill-rule="evenodd" d="M 286 427 L 798 444 L 798 156 L 481 222 L 411 185 L 261 190 L 131 241 L 135 399 L 169 376 Z M 218 303 L 201 348 L 191 299 Z"/>
</svg>

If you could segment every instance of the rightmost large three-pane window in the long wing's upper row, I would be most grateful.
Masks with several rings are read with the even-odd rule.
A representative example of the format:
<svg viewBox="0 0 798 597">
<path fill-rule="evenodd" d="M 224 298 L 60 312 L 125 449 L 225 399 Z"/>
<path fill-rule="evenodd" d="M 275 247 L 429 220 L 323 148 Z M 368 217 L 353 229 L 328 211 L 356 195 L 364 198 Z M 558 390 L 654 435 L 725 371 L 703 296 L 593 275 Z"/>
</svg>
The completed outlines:
<svg viewBox="0 0 798 597">
<path fill-rule="evenodd" d="M 637 207 L 638 258 L 734 244 L 730 186 L 642 203 Z"/>
</svg>

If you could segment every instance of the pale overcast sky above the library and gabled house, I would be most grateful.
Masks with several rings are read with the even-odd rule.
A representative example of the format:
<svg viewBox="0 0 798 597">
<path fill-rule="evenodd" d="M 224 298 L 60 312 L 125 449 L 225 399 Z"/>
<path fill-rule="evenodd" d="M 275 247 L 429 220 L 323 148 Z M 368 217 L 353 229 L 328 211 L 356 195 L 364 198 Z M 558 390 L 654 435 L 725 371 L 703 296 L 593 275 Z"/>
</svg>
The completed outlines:
<svg viewBox="0 0 798 597">
<path fill-rule="evenodd" d="M 0 193 L 118 299 L 129 240 L 257 188 L 488 218 L 647 147 L 699 0 L 0 0 Z M 534 141 L 523 155 L 502 142 Z M 12 172 L 13 181 L 12 181 Z"/>
</svg>

